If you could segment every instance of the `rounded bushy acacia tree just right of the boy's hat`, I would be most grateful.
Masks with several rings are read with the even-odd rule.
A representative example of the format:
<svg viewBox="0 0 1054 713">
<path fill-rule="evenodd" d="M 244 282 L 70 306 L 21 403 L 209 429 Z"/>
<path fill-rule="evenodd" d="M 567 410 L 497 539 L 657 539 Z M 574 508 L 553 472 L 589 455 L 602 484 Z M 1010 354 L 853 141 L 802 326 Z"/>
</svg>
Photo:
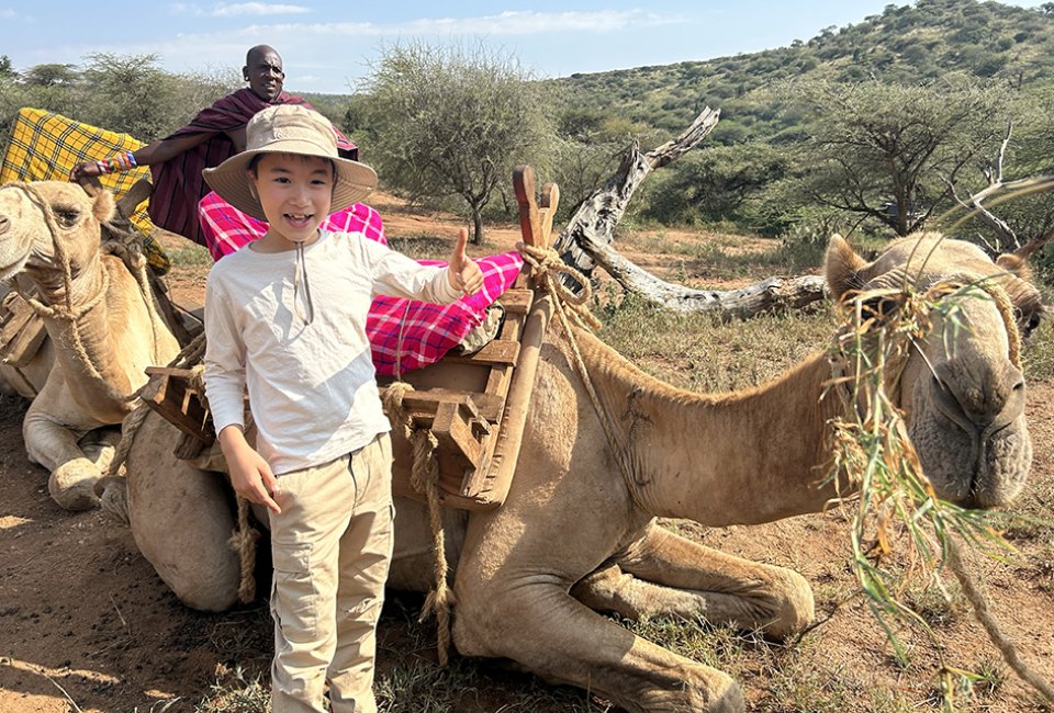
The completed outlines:
<svg viewBox="0 0 1054 713">
<path fill-rule="evenodd" d="M 546 163 L 553 134 L 529 79 L 482 47 L 385 49 L 366 81 L 371 162 L 412 200 L 460 196 L 479 245 L 495 188 L 517 163 Z"/>
</svg>

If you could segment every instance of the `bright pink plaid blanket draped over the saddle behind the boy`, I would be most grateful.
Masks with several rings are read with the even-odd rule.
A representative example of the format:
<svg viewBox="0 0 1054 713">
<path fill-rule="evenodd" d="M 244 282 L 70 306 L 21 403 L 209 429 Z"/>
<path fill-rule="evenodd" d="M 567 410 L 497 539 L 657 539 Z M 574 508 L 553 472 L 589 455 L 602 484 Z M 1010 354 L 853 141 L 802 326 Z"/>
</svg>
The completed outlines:
<svg viewBox="0 0 1054 713">
<path fill-rule="evenodd" d="M 215 192 L 205 195 L 198 204 L 198 217 L 205 246 L 214 260 L 267 233 L 266 223 L 242 213 Z M 334 213 L 321 227 L 334 233 L 361 233 L 370 240 L 388 245 L 380 214 L 361 203 Z M 446 264 L 438 260 L 421 262 Z M 486 307 L 512 286 L 524 259 L 514 250 L 476 262 L 483 270 L 483 288 L 453 304 L 433 305 L 384 296 L 373 299 L 366 333 L 378 374 L 401 374 L 442 359 L 483 321 Z"/>
</svg>

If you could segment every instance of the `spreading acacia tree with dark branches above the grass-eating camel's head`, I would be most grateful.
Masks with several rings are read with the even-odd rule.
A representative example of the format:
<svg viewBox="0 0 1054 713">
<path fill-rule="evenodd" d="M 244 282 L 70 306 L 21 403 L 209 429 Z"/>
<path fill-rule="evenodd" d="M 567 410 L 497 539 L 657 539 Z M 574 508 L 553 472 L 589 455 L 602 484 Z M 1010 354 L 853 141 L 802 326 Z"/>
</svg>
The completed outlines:
<svg viewBox="0 0 1054 713">
<path fill-rule="evenodd" d="M 949 181 L 998 146 L 1005 125 L 1005 97 L 967 82 L 811 81 L 788 98 L 814 117 L 801 147 L 804 197 L 901 236 L 953 205 Z"/>
</svg>

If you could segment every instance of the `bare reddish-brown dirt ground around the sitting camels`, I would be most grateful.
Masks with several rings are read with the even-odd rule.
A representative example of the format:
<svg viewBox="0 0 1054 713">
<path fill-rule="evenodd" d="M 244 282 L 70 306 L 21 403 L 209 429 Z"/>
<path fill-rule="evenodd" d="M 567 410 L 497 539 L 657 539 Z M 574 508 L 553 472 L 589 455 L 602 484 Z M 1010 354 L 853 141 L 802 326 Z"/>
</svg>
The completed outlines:
<svg viewBox="0 0 1054 713">
<path fill-rule="evenodd" d="M 385 222 L 392 237 L 452 235 L 458 225 L 390 207 Z M 494 230 L 487 250 L 511 248 L 517 237 L 514 226 Z M 176 282 L 186 294 L 195 290 L 189 275 Z M 1050 483 L 1054 478 L 1054 384 L 1030 384 L 1029 388 L 1036 448 L 1033 480 Z M 0 713 L 192 711 L 236 664 L 266 661 L 270 654 L 261 649 L 269 642 L 269 620 L 264 604 L 225 614 L 188 610 L 138 554 L 127 530 L 99 511 L 69 513 L 52 501 L 47 474 L 26 460 L 21 435 L 24 409 L 24 403 L 0 397 Z M 902 690 L 909 700 L 922 700 L 926 692 L 920 689 L 933 686 L 924 675 L 932 669 L 927 663 L 932 650 L 916 644 L 912 650 L 921 671 L 912 669 L 901 677 L 890 666 L 888 646 L 860 600 L 836 607 L 825 596 L 850 579 L 843 528 L 833 516 L 808 516 L 764 527 L 708 531 L 703 536 L 707 544 L 728 552 L 801 571 L 817 589 L 818 613 L 831 615 L 804 645 L 822 648 L 830 666 L 844 667 L 846 680 L 874 680 L 894 694 Z M 1021 543 L 1025 555 L 1039 546 Z M 1044 574 L 1042 567 L 985 563 L 982 570 L 995 614 L 1025 660 L 1051 680 L 1054 584 L 1050 566 Z M 418 601 L 394 598 L 385 608 L 382 671 L 400 657 L 433 660 L 430 649 L 403 643 L 405 629 L 413 625 L 406 612 L 417 606 Z M 388 638 L 391 634 L 385 629 L 395 632 L 395 641 Z M 972 666 L 996 659 L 968 615 L 944 624 L 941 635 L 952 663 Z M 870 679 L 872 672 L 877 678 Z M 759 705 L 769 675 L 764 667 L 737 671 L 752 705 Z M 1035 705 L 1034 694 L 1007 676 L 1010 680 L 983 708 L 969 710 L 1043 710 Z M 489 669 L 475 684 L 483 689 L 483 702 L 473 713 L 489 713 L 511 710 L 503 690 L 540 683 Z M 809 710 L 787 705 L 764 710 Z M 597 704 L 595 710 L 606 709 Z M 931 703 L 924 710 L 937 708 Z"/>
</svg>

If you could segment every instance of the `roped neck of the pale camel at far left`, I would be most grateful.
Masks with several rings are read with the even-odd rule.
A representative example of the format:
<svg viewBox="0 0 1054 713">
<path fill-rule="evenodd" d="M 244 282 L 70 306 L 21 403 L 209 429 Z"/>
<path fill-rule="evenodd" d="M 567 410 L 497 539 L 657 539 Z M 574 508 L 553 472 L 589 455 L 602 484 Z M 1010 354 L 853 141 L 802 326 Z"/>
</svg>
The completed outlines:
<svg viewBox="0 0 1054 713">
<path fill-rule="evenodd" d="M 114 325 L 111 324 L 111 317 L 114 316 L 111 315 L 108 295 L 98 298 L 105 286 L 105 270 L 103 260 L 96 257 L 75 274 L 69 291 L 71 301 L 66 297 L 66 281 L 61 271 L 27 271 L 41 292 L 41 301 L 59 313 L 67 313 L 70 302 L 74 313 L 80 313 L 91 302 L 96 303 L 72 321 L 61 317 L 44 319 L 48 336 L 58 347 L 55 350 L 56 359 L 68 375 L 67 381 L 75 398 L 80 403 L 96 405 L 105 403 L 104 399 L 109 400 L 110 392 L 99 380 L 90 376 L 86 360 L 117 393 L 128 394 L 132 391 L 128 374 L 121 366 Z"/>
</svg>

